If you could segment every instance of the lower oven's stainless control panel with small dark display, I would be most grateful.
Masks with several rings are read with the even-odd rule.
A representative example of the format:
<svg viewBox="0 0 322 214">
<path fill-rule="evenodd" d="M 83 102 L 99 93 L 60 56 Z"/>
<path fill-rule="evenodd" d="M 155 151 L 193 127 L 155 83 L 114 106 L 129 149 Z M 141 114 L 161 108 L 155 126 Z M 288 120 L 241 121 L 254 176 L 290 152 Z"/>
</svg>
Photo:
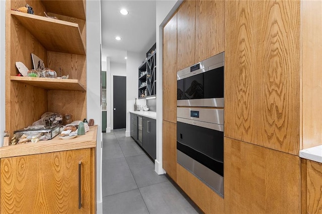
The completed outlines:
<svg viewBox="0 0 322 214">
<path fill-rule="evenodd" d="M 191 117 L 191 111 L 198 111 L 199 118 Z M 177 117 L 193 121 L 201 121 L 223 125 L 223 109 L 177 108 Z M 194 124 L 193 124 L 194 125 Z"/>
</svg>

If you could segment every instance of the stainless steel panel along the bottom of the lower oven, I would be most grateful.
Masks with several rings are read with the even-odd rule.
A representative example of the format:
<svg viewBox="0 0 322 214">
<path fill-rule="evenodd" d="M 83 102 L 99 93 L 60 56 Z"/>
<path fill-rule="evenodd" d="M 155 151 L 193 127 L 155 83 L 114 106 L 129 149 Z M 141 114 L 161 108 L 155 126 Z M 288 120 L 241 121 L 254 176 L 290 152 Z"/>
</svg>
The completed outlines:
<svg viewBox="0 0 322 214">
<path fill-rule="evenodd" d="M 177 150 L 177 162 L 223 198 L 223 177 Z"/>
</svg>

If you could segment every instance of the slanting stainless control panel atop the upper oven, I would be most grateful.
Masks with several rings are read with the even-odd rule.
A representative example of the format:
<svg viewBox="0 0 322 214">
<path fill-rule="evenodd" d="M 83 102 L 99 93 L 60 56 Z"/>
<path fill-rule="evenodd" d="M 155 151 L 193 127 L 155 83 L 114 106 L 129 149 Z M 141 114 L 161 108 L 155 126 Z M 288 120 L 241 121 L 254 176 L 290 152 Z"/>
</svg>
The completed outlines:
<svg viewBox="0 0 322 214">
<path fill-rule="evenodd" d="M 191 72 L 190 68 L 197 64 L 200 64 L 200 68 L 198 70 Z M 212 56 L 196 64 L 193 64 L 192 66 L 189 66 L 187 68 L 184 68 L 178 71 L 177 80 L 224 66 L 224 52 L 219 53 L 215 56 Z"/>
</svg>

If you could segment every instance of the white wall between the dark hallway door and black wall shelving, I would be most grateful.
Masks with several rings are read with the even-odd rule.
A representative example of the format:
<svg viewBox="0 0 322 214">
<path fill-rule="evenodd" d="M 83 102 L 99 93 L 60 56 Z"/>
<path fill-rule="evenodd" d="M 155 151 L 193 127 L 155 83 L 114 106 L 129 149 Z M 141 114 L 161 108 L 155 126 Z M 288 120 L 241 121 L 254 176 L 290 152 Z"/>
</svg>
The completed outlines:
<svg viewBox="0 0 322 214">
<path fill-rule="evenodd" d="M 145 60 L 143 53 L 127 52 L 126 60 L 126 133 L 130 136 L 130 113 L 134 111 L 135 98 L 138 98 L 138 67 Z M 137 99 L 137 104 L 146 104 L 145 99 Z"/>
</svg>

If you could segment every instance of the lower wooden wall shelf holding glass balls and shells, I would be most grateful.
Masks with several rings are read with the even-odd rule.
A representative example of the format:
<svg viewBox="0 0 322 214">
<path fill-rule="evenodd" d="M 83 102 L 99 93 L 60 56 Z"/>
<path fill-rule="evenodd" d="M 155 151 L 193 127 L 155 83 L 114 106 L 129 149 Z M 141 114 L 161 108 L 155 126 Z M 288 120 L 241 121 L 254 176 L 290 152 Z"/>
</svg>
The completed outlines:
<svg viewBox="0 0 322 214">
<path fill-rule="evenodd" d="M 34 85 L 47 90 L 78 90 L 86 91 L 86 87 L 77 79 L 54 79 L 40 77 L 11 76 L 12 81 Z"/>
</svg>

